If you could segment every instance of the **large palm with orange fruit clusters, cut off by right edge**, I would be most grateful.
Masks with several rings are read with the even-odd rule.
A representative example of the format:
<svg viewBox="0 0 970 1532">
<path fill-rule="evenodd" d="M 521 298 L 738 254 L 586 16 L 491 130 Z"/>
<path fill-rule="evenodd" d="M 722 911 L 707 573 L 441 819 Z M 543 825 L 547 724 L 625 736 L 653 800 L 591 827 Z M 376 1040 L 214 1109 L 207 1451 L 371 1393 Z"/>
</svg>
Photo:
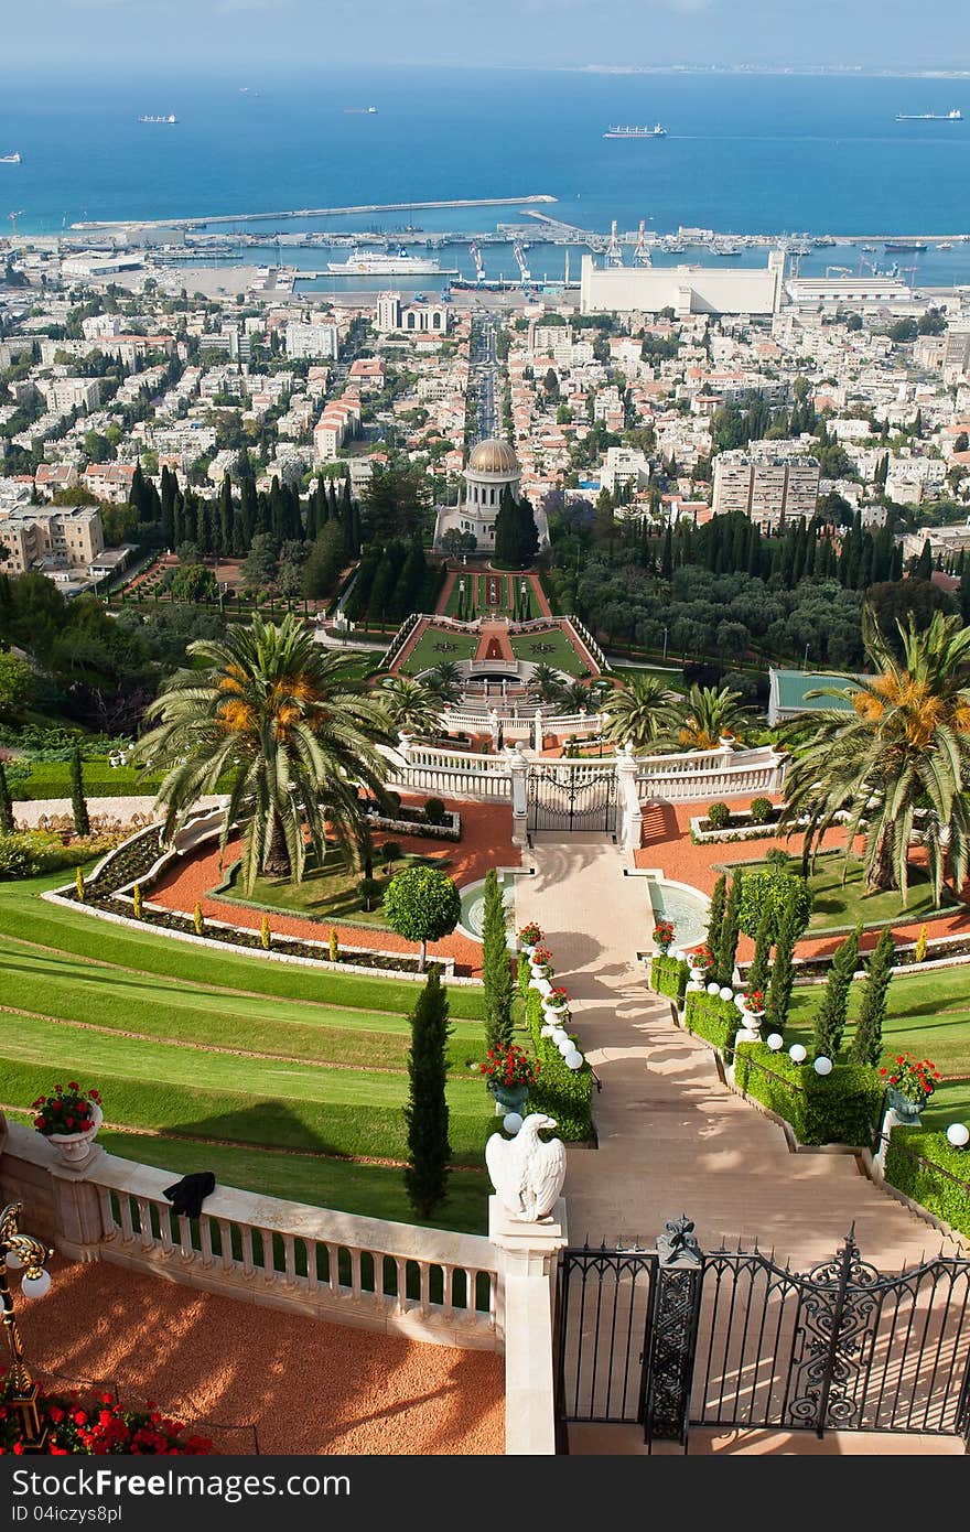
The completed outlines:
<svg viewBox="0 0 970 1532">
<path fill-rule="evenodd" d="M 863 611 L 863 640 L 875 676 L 844 676 L 808 697 L 843 697 L 850 711 L 792 719 L 780 731 L 795 751 L 786 781 L 785 821 L 808 817 L 805 863 L 841 813 L 847 815 L 846 866 L 864 830 L 866 887 L 909 889 L 909 847 L 918 818 L 933 892 L 939 901 L 947 858 L 959 890 L 970 859 L 970 628 L 933 613 L 922 633 L 910 614 L 896 624 L 898 659 L 873 614 Z"/>
</svg>

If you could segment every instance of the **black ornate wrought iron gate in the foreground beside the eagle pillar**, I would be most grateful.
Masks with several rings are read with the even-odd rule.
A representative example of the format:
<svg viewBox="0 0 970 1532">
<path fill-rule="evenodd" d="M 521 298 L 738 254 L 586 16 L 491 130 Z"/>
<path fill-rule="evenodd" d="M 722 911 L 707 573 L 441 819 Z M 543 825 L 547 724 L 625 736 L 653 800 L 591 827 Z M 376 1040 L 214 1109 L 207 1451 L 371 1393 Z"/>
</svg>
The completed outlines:
<svg viewBox="0 0 970 1532">
<path fill-rule="evenodd" d="M 654 1250 L 570 1249 L 559 1267 L 564 1423 L 900 1431 L 970 1442 L 970 1261 L 901 1273 L 855 1232 L 811 1272 L 760 1250 L 703 1253 L 687 1218 Z"/>
</svg>

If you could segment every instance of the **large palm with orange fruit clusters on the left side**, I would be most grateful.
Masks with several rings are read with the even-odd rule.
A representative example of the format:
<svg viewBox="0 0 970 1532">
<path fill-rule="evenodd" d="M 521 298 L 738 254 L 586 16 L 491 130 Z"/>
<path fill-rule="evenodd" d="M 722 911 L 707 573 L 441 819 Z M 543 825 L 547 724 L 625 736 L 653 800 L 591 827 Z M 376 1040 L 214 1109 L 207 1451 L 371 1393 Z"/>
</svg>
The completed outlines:
<svg viewBox="0 0 970 1532">
<path fill-rule="evenodd" d="M 247 893 L 261 872 L 299 882 L 306 861 L 303 824 L 322 863 L 329 823 L 352 846 L 362 807 L 357 784 L 383 798 L 378 745 L 394 729 L 378 697 L 351 679 L 356 660 L 325 650 L 291 616 L 253 617 L 222 640 L 199 639 L 146 717 L 156 726 L 136 758 L 165 772 L 165 838 L 202 794 L 228 786 L 222 850 L 242 826 Z"/>
</svg>

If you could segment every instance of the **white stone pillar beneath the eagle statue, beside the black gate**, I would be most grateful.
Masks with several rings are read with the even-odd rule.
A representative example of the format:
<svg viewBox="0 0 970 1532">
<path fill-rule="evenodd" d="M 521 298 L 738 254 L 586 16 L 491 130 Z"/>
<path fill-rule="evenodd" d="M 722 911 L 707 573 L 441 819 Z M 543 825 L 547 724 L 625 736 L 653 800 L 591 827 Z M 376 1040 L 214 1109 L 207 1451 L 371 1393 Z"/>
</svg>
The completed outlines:
<svg viewBox="0 0 970 1532">
<path fill-rule="evenodd" d="M 519 1224 L 490 1196 L 489 1239 L 500 1250 L 506 1296 L 506 1455 L 553 1457 L 553 1295 L 567 1244 L 564 1198 L 542 1223 Z"/>
</svg>

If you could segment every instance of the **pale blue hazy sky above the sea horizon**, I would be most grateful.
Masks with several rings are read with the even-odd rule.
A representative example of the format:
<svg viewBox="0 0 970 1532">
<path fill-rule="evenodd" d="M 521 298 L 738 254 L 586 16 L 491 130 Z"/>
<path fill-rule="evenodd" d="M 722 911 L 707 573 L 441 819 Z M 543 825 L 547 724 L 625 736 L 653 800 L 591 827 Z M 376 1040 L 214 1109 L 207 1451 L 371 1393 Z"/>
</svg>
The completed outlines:
<svg viewBox="0 0 970 1532">
<path fill-rule="evenodd" d="M 18 64 L 970 69 L 967 0 L 0 0 Z"/>
</svg>

